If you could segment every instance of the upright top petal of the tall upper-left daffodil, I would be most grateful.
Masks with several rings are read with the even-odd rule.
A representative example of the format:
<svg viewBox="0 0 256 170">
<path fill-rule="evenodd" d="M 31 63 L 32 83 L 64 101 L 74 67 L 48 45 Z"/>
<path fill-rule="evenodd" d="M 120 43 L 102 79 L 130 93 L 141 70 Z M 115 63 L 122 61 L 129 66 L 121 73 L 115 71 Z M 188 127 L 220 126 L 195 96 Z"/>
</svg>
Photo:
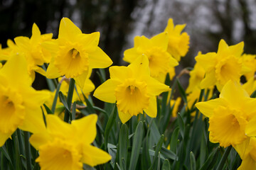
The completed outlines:
<svg viewBox="0 0 256 170">
<path fill-rule="evenodd" d="M 73 38 L 81 33 L 81 30 L 69 18 L 61 19 L 58 38 L 73 40 Z"/>
</svg>

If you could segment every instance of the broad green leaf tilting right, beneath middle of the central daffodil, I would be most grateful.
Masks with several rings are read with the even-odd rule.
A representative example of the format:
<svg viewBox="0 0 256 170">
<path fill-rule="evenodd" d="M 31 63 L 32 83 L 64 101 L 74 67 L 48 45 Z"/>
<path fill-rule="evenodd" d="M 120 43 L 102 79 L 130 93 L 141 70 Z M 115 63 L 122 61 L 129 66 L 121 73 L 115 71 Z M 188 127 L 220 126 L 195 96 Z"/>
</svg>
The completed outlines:
<svg viewBox="0 0 256 170">
<path fill-rule="evenodd" d="M 132 155 L 129 164 L 129 170 L 134 170 L 137 166 L 137 162 L 139 159 L 139 150 L 142 146 L 142 137 L 143 137 L 143 125 L 142 122 L 139 122 L 137 128 L 134 132 L 134 140 L 132 143 Z"/>
</svg>

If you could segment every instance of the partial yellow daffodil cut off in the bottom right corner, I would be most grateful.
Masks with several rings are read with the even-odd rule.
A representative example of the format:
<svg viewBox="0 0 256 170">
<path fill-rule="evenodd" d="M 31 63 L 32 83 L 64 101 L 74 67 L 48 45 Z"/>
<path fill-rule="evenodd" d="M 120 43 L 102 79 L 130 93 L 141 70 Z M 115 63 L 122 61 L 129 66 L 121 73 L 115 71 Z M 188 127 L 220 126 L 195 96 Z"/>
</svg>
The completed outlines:
<svg viewBox="0 0 256 170">
<path fill-rule="evenodd" d="M 256 137 L 248 137 L 240 145 L 234 146 L 242 159 L 238 170 L 256 169 Z"/>
</svg>

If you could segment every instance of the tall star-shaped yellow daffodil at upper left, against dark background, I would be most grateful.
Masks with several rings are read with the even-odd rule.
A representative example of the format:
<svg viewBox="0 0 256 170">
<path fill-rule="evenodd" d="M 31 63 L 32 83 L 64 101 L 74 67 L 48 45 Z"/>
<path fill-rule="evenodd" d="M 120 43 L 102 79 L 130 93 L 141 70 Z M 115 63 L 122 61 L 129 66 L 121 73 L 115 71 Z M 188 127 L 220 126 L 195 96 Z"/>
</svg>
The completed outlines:
<svg viewBox="0 0 256 170">
<path fill-rule="evenodd" d="M 46 77 L 74 78 L 83 87 L 90 69 L 105 68 L 112 60 L 98 47 L 100 33 L 85 34 L 68 18 L 62 18 L 58 39 L 44 43 L 53 52 Z"/>
</svg>

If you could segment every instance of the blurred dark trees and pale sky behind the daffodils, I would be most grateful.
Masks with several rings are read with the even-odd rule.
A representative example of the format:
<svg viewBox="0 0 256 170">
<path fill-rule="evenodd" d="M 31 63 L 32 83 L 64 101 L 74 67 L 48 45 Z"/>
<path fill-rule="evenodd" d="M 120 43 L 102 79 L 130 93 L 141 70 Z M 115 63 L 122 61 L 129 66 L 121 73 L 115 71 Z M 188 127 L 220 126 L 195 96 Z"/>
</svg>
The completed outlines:
<svg viewBox="0 0 256 170">
<path fill-rule="evenodd" d="M 256 53 L 255 0 L 0 0 L 0 43 L 6 47 L 7 39 L 31 37 L 33 23 L 41 33 L 58 38 L 63 17 L 70 18 L 82 33 L 100 31 L 99 46 L 113 65 L 127 64 L 122 61 L 123 52 L 133 47 L 134 36 L 150 38 L 161 33 L 169 18 L 175 25 L 186 23 L 184 31 L 190 35 L 189 52 L 176 74 L 193 67 L 199 50 L 216 52 L 220 39 L 228 45 L 244 41 L 245 53 Z M 181 82 L 186 86 L 188 76 Z M 33 86 L 43 89 L 44 83 L 36 79 Z"/>
</svg>

